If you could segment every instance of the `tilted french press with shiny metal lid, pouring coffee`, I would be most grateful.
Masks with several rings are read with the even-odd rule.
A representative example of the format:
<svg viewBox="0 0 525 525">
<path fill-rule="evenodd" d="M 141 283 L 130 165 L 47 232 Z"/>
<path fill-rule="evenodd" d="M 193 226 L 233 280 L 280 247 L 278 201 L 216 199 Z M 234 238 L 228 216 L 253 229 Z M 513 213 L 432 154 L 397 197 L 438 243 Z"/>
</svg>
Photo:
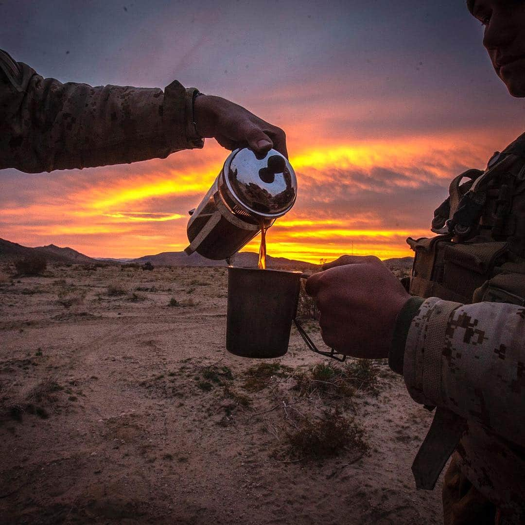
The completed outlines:
<svg viewBox="0 0 525 525">
<path fill-rule="evenodd" d="M 208 259 L 227 259 L 264 225 L 287 213 L 296 201 L 297 179 L 288 159 L 276 150 L 256 155 L 234 150 L 201 203 L 190 211 L 184 251 Z"/>
</svg>

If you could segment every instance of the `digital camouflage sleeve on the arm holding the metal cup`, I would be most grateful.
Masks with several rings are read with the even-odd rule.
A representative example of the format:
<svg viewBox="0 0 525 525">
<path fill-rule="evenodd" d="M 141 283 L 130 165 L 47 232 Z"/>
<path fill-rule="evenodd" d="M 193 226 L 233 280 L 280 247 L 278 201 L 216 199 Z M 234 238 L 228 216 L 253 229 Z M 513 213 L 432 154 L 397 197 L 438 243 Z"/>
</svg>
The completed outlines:
<svg viewBox="0 0 525 525">
<path fill-rule="evenodd" d="M 525 308 L 427 299 L 408 331 L 403 375 L 418 403 L 525 445 Z"/>
</svg>

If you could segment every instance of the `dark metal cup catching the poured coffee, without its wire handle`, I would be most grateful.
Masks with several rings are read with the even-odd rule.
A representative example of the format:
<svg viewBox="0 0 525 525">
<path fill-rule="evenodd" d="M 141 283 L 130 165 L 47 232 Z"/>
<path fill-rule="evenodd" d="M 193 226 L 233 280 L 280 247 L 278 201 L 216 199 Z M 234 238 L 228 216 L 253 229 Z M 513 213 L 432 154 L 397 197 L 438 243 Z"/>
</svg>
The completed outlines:
<svg viewBox="0 0 525 525">
<path fill-rule="evenodd" d="M 261 359 L 286 353 L 300 278 L 300 271 L 228 268 L 228 352 Z"/>
</svg>

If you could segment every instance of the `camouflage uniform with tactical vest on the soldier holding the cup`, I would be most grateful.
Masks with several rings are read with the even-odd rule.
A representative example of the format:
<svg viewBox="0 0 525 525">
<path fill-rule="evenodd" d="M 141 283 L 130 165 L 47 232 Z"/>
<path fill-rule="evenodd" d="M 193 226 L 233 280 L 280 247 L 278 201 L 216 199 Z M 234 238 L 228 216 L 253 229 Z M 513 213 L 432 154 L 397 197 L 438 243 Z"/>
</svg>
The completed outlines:
<svg viewBox="0 0 525 525">
<path fill-rule="evenodd" d="M 437 407 L 416 485 L 433 488 L 455 450 L 445 522 L 494 523 L 488 499 L 496 522 L 525 523 L 525 134 L 484 172 L 453 181 L 433 230 L 441 235 L 408 239 L 410 291 L 428 298 L 400 313 L 401 363 L 391 355 L 414 400 Z"/>
</svg>

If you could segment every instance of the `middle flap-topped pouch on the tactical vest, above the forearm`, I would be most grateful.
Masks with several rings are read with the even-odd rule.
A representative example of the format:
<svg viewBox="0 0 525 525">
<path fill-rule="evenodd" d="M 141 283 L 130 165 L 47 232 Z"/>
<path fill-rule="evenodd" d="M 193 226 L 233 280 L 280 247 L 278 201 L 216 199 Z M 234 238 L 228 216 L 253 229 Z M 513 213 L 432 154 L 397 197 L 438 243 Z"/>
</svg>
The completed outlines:
<svg viewBox="0 0 525 525">
<path fill-rule="evenodd" d="M 444 249 L 443 286 L 470 303 L 474 292 L 494 275 L 508 252 L 508 243 L 457 243 Z M 441 297 L 441 296 L 439 296 Z"/>
</svg>

